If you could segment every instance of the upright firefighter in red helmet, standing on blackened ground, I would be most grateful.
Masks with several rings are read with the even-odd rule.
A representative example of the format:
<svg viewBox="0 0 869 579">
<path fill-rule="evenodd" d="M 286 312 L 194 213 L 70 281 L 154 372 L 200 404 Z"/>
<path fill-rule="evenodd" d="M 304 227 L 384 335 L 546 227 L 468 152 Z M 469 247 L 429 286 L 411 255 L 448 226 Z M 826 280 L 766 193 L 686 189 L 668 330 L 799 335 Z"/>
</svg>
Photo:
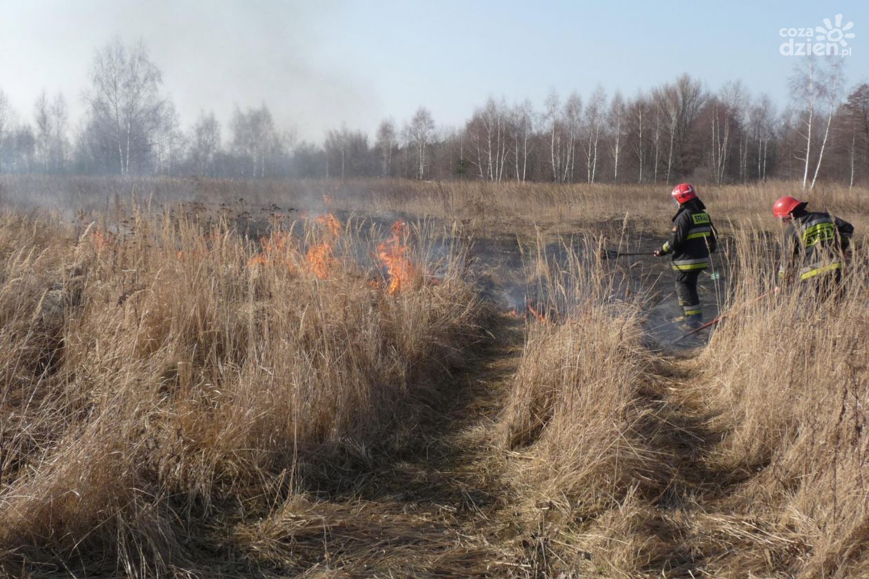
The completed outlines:
<svg viewBox="0 0 869 579">
<path fill-rule="evenodd" d="M 703 322 L 697 278 L 709 266 L 709 254 L 715 251 L 715 228 L 692 185 L 680 183 L 671 195 L 679 211 L 673 216 L 670 240 L 654 254 L 672 255 L 676 297 L 682 306 L 682 315 L 673 321 L 681 322 L 684 330 L 692 330 Z"/>
</svg>

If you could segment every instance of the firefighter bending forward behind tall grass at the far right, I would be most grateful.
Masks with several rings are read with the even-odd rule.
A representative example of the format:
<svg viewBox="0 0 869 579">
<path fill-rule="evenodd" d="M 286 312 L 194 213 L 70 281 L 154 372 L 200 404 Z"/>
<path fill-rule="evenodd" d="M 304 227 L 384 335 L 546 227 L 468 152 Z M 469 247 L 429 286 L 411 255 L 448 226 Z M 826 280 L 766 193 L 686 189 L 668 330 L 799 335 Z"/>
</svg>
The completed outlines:
<svg viewBox="0 0 869 579">
<path fill-rule="evenodd" d="M 786 223 L 779 286 L 799 278 L 823 298 L 839 290 L 854 226 L 823 211 L 806 211 L 807 205 L 790 195 L 773 205 L 773 215 Z"/>
</svg>

